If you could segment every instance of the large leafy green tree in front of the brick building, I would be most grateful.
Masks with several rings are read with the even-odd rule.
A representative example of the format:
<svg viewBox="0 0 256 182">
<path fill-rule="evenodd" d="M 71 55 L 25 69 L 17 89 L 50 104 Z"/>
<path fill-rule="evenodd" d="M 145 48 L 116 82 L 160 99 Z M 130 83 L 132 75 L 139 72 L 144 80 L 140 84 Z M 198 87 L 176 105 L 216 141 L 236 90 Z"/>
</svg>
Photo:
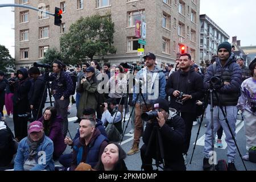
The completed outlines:
<svg viewBox="0 0 256 182">
<path fill-rule="evenodd" d="M 69 28 L 69 32 L 61 36 L 60 48 L 63 59 L 69 64 L 76 64 L 86 57 L 105 56 L 115 53 L 113 44 L 114 23 L 106 14 L 80 18 Z"/>
</svg>

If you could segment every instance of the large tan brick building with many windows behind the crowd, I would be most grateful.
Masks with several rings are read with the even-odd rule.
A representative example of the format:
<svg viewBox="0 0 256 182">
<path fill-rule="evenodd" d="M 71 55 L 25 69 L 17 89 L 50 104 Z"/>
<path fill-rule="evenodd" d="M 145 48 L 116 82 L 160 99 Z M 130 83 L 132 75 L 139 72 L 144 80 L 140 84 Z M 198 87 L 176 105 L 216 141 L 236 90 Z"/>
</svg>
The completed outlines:
<svg viewBox="0 0 256 182">
<path fill-rule="evenodd" d="M 138 48 L 156 55 L 158 63 L 175 63 L 185 47 L 199 60 L 199 0 L 15 0 L 54 13 L 63 10 L 61 26 L 54 17 L 38 11 L 15 7 L 16 67 L 31 67 L 43 59 L 48 48 L 60 49 L 59 38 L 81 16 L 110 13 L 115 24 L 115 55 L 104 56 L 110 64 L 139 61 Z M 144 17 L 146 46 L 135 37 L 135 20 Z M 94 57 L 97 59 L 97 57 Z M 102 62 L 103 63 L 103 62 Z"/>
</svg>

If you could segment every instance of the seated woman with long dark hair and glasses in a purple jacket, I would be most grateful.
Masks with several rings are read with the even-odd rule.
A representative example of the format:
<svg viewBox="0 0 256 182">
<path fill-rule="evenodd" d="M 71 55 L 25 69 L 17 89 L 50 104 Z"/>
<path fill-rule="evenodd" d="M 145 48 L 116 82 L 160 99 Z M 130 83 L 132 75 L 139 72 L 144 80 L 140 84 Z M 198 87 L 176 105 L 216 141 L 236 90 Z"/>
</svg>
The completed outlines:
<svg viewBox="0 0 256 182">
<path fill-rule="evenodd" d="M 43 123 L 44 134 L 53 142 L 53 160 L 56 160 L 67 147 L 67 145 L 64 143 L 64 135 L 62 130 L 63 119 L 57 115 L 57 110 L 55 107 L 49 106 L 46 108 L 46 110 L 44 110 L 44 115 L 38 121 Z"/>
</svg>

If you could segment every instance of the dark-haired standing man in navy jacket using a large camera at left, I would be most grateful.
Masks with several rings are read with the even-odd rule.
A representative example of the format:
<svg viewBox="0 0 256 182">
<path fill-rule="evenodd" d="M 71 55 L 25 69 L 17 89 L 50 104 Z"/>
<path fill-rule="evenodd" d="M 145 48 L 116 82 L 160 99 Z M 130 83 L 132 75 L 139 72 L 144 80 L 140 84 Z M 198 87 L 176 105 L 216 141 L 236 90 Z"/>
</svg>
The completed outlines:
<svg viewBox="0 0 256 182">
<path fill-rule="evenodd" d="M 65 65 L 56 60 L 52 64 L 53 73 L 49 76 L 48 69 L 44 72 L 44 78 L 46 81 L 52 81 L 51 91 L 54 97 L 54 107 L 57 109 L 57 115 L 63 118 L 63 134 L 64 137 L 68 132 L 68 105 L 69 96 L 73 92 L 73 81 L 71 76 L 63 69 Z"/>
</svg>

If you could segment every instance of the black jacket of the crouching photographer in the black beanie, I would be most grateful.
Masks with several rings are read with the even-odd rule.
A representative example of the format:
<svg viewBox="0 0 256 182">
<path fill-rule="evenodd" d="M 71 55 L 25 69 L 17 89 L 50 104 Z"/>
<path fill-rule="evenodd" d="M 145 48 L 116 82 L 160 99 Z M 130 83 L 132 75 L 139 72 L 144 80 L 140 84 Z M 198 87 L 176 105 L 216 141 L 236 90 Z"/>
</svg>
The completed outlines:
<svg viewBox="0 0 256 182">
<path fill-rule="evenodd" d="M 147 147 L 154 125 L 155 123 L 146 124 L 146 129 L 142 139 Z M 159 127 L 158 124 L 156 125 Z M 170 111 L 167 122 L 159 129 L 159 131 L 163 141 L 164 162 L 166 167 L 178 171 L 185 170 L 184 159 L 182 155 L 183 144 L 185 140 L 184 120 L 176 113 Z M 150 150 L 155 150 L 156 147 L 159 148 L 159 146 L 156 146 L 155 140 L 153 140 L 150 145 Z"/>
</svg>

